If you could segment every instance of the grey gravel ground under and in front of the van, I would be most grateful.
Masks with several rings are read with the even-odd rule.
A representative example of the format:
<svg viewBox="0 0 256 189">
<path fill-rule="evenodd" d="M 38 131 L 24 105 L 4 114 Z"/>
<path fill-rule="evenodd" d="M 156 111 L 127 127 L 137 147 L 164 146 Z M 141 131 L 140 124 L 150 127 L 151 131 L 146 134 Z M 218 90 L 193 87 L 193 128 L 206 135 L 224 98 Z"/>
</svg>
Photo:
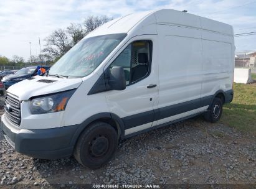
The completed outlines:
<svg viewBox="0 0 256 189">
<path fill-rule="evenodd" d="M 0 114 L 3 113 L 0 97 Z M 80 184 L 252 184 L 256 139 L 201 116 L 121 142 L 97 170 L 73 157 L 39 160 L 15 152 L 0 132 L 0 188 L 77 188 Z M 245 187 L 246 188 L 246 187 Z"/>
</svg>

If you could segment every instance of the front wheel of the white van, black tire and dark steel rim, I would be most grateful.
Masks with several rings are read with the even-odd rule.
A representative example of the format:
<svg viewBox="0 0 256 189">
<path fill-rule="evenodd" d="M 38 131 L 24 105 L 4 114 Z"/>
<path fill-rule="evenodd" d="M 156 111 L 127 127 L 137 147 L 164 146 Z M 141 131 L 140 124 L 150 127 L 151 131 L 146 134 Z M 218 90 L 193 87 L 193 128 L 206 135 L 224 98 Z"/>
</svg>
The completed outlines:
<svg viewBox="0 0 256 189">
<path fill-rule="evenodd" d="M 118 134 L 105 122 L 90 124 L 77 141 L 75 159 L 85 167 L 100 168 L 115 154 Z"/>
</svg>

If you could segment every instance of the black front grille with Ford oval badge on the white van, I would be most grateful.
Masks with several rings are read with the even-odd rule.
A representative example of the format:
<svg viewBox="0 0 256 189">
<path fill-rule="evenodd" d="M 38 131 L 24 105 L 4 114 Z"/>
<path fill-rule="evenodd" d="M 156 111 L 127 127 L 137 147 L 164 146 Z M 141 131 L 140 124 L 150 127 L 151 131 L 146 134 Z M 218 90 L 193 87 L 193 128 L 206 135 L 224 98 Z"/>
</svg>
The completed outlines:
<svg viewBox="0 0 256 189">
<path fill-rule="evenodd" d="M 19 99 L 6 94 L 6 101 L 4 102 L 5 116 L 15 126 L 19 127 L 21 124 L 21 103 Z"/>
</svg>

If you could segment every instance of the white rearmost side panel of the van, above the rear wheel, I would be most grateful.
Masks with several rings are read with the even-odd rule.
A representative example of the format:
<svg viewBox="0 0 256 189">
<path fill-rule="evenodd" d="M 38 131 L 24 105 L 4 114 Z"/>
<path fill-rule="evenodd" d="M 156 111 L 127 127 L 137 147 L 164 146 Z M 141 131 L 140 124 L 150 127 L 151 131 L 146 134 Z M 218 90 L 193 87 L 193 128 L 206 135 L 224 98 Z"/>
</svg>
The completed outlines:
<svg viewBox="0 0 256 189">
<path fill-rule="evenodd" d="M 202 40 L 202 48 L 204 73 L 202 97 L 215 94 L 218 90 L 231 90 L 234 74 L 232 44 Z"/>
</svg>

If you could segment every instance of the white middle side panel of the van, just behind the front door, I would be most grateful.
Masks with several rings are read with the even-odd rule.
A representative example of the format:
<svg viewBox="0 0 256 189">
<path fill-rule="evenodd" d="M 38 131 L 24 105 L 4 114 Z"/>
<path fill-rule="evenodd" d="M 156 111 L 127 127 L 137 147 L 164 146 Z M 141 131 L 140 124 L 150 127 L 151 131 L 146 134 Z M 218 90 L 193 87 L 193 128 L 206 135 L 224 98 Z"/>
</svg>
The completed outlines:
<svg viewBox="0 0 256 189">
<path fill-rule="evenodd" d="M 158 25 L 158 30 L 167 33 L 165 25 Z M 200 98 L 201 39 L 173 36 L 173 30 L 176 27 L 169 26 L 170 35 L 159 36 L 159 108 Z M 179 30 L 180 34 L 200 36 L 199 30 Z"/>
</svg>

